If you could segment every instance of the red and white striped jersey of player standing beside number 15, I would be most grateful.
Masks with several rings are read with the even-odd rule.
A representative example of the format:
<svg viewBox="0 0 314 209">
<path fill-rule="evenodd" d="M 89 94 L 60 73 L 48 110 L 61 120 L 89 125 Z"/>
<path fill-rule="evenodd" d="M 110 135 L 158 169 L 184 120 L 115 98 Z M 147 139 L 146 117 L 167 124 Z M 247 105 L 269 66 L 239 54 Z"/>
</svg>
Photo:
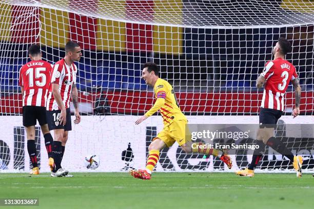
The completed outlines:
<svg viewBox="0 0 314 209">
<path fill-rule="evenodd" d="M 76 84 L 76 72 L 76 65 L 72 63 L 71 66 L 68 66 L 64 59 L 61 59 L 54 64 L 52 68 L 51 83 L 47 99 L 47 110 L 60 110 L 52 94 L 52 83 L 56 83 L 59 85 L 61 99 L 65 108 L 70 107 L 70 95 L 72 85 Z"/>
</svg>

